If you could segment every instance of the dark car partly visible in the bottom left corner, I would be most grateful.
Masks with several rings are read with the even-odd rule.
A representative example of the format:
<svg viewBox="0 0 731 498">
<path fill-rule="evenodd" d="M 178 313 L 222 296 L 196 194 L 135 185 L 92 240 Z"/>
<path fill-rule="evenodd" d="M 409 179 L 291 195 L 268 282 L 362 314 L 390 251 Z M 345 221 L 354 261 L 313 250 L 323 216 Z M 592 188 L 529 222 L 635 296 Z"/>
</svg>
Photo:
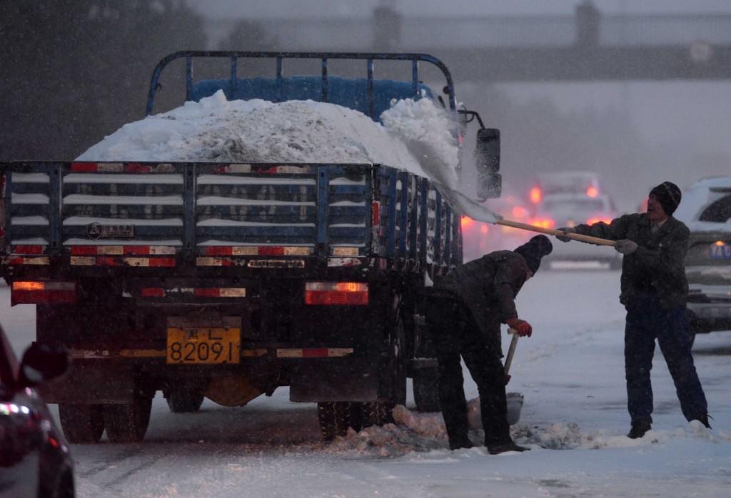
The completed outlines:
<svg viewBox="0 0 731 498">
<path fill-rule="evenodd" d="M 0 497 L 74 496 L 68 445 L 36 390 L 67 368 L 64 350 L 37 344 L 18 364 L 0 326 Z"/>
</svg>

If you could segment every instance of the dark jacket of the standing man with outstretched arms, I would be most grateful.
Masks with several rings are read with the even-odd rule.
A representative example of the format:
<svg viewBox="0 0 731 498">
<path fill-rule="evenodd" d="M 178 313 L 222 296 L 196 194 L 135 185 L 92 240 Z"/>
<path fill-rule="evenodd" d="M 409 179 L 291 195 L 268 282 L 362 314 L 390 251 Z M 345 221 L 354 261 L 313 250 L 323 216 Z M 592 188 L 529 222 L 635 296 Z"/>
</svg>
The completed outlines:
<svg viewBox="0 0 731 498">
<path fill-rule="evenodd" d="M 594 223 L 574 229 L 577 234 L 637 242 L 637 251 L 625 255 L 622 261 L 622 304 L 626 306 L 637 294 L 656 293 L 665 308 L 684 306 L 688 297 L 683 264 L 688 252 L 688 227 L 672 216 L 654 234 L 650 226 L 650 218 L 643 213 L 621 216 L 609 225 Z"/>
</svg>

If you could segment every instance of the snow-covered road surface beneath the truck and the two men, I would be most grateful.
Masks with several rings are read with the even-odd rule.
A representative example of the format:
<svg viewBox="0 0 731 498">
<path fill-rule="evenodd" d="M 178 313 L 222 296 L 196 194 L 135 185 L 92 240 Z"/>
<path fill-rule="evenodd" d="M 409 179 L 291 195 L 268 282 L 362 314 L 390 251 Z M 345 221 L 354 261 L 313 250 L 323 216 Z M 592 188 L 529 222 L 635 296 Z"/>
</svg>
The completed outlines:
<svg viewBox="0 0 731 498">
<path fill-rule="evenodd" d="M 511 391 L 526 396 L 522 454 L 484 448 L 452 452 L 428 429 L 369 430 L 319 440 L 314 405 L 287 390 L 243 408 L 206 401 L 173 414 L 155 399 L 144 443 L 74 445 L 81 497 L 729 497 L 731 333 L 697 337 L 694 356 L 714 420 L 694 432 L 680 412 L 659 351 L 653 370 L 654 431 L 624 437 L 618 272 L 540 271 L 518 296 L 534 335 L 520 340 Z M 0 320 L 18 350 L 32 340 L 33 310 L 10 308 L 0 286 Z M 504 341 L 507 343 L 507 340 Z M 507 344 L 506 344 L 507 345 Z M 468 375 L 469 377 L 469 375 Z M 471 380 L 468 397 L 477 396 Z M 410 401 L 411 402 L 411 401 Z M 408 415 L 408 414 L 406 414 Z"/>
</svg>

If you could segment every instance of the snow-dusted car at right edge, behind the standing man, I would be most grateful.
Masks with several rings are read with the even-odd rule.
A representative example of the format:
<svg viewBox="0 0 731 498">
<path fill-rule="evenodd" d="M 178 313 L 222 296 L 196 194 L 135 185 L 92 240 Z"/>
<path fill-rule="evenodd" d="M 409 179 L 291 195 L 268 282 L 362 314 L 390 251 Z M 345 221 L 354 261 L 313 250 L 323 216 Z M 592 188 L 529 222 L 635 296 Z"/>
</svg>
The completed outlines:
<svg viewBox="0 0 731 498">
<path fill-rule="evenodd" d="M 691 185 L 673 216 L 690 230 L 685 262 L 692 332 L 731 330 L 731 176 Z"/>
</svg>

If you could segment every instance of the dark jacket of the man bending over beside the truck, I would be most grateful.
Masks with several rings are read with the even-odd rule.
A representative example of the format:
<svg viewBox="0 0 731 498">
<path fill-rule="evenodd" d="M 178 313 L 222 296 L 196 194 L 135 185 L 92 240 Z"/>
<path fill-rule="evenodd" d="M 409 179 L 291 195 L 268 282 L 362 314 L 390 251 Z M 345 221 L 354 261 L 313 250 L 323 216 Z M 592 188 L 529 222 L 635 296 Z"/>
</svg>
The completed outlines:
<svg viewBox="0 0 731 498">
<path fill-rule="evenodd" d="M 434 283 L 434 291 L 458 296 L 467 305 L 485 337 L 497 334 L 500 323 L 517 318 L 515 296 L 526 281 L 528 264 L 511 250 L 485 254 L 455 268 Z"/>
</svg>

